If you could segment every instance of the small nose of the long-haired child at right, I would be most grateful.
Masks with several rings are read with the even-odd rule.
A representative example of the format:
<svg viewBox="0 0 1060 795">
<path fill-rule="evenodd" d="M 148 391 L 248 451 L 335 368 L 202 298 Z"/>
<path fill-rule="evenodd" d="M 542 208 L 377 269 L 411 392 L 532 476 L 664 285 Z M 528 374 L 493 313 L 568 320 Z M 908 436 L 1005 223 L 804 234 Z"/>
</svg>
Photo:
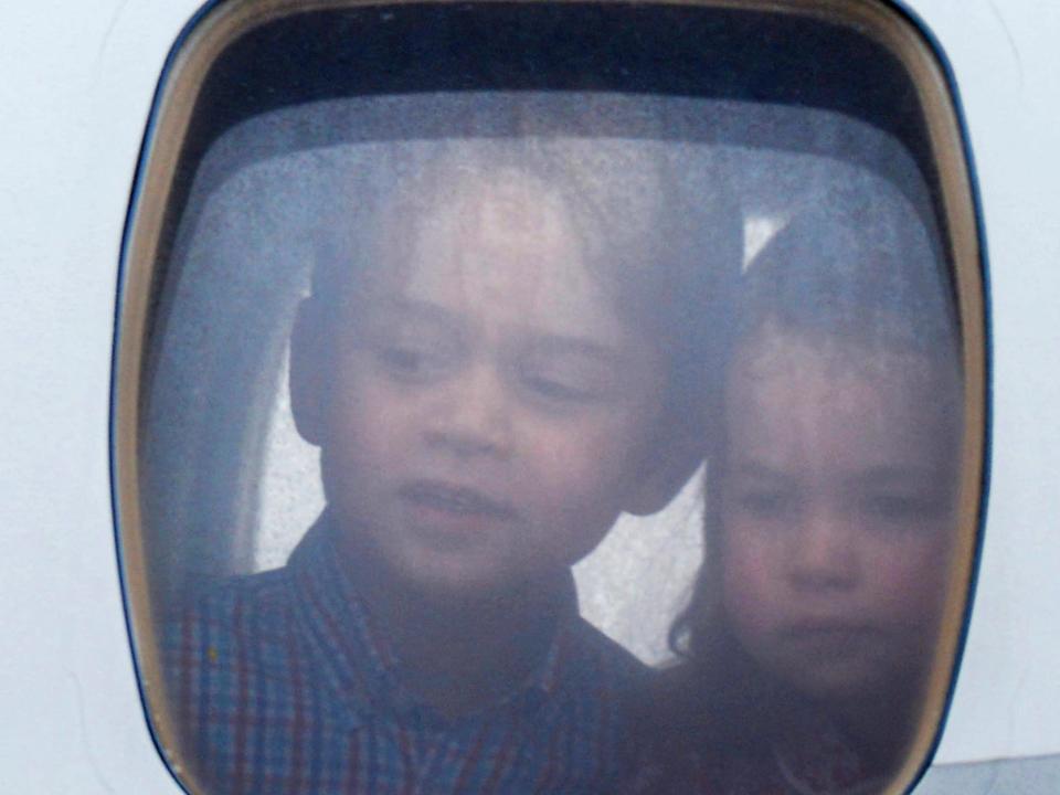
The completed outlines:
<svg viewBox="0 0 1060 795">
<path fill-rule="evenodd" d="M 857 531 L 841 515 L 812 510 L 792 539 L 789 565 L 796 587 L 841 591 L 857 583 L 861 564 Z"/>
</svg>

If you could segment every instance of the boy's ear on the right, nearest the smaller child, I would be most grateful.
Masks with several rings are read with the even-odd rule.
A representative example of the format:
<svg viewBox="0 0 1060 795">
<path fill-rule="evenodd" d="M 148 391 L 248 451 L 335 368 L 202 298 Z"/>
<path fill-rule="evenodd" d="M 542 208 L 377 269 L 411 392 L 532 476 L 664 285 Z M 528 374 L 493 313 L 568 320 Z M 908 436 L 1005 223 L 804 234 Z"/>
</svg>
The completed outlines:
<svg viewBox="0 0 1060 795">
<path fill-rule="evenodd" d="M 706 455 L 703 428 L 698 423 L 668 423 L 646 445 L 623 509 L 634 516 L 662 510 L 680 491 Z M 695 425 L 695 427 L 692 427 Z"/>
</svg>

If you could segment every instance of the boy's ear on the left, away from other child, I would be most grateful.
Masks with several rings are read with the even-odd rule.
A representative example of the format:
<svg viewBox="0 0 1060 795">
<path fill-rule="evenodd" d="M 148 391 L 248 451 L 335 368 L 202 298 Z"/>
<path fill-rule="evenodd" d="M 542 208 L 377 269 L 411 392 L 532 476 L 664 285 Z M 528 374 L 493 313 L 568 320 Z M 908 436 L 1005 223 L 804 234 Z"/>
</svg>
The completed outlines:
<svg viewBox="0 0 1060 795">
<path fill-rule="evenodd" d="M 318 301 L 306 298 L 298 305 L 290 332 L 290 410 L 299 435 L 320 446 L 326 437 L 327 400 L 330 390 L 328 341 L 324 312 Z"/>
</svg>

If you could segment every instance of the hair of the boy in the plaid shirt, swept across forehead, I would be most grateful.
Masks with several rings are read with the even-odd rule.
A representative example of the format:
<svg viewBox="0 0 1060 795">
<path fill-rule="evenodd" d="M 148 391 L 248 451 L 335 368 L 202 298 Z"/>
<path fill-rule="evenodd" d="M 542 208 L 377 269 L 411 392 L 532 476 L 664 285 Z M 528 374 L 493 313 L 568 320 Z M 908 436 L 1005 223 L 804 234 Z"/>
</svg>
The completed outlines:
<svg viewBox="0 0 1060 795">
<path fill-rule="evenodd" d="M 393 262 L 406 224 L 460 201 L 476 184 L 522 180 L 569 213 L 590 273 L 612 290 L 623 321 L 668 362 L 664 414 L 687 426 L 671 437 L 701 436 L 698 404 L 731 327 L 743 232 L 723 178 L 683 179 L 674 148 L 532 137 L 409 145 L 377 165 L 384 190 L 365 191 L 364 177 L 356 177 L 358 199 L 329 214 L 318 235 L 312 300 L 338 322 L 369 271 Z"/>
</svg>

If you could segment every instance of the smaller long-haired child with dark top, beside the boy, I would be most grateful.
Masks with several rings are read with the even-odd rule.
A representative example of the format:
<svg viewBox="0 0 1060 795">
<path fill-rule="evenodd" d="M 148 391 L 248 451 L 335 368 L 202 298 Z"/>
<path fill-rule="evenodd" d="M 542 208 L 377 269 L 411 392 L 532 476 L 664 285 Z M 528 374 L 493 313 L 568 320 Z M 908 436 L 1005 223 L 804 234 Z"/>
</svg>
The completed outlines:
<svg viewBox="0 0 1060 795">
<path fill-rule="evenodd" d="M 776 234 L 738 307 L 707 562 L 642 789 L 880 792 L 920 718 L 955 539 L 948 289 L 916 223 L 848 195 Z"/>
</svg>

